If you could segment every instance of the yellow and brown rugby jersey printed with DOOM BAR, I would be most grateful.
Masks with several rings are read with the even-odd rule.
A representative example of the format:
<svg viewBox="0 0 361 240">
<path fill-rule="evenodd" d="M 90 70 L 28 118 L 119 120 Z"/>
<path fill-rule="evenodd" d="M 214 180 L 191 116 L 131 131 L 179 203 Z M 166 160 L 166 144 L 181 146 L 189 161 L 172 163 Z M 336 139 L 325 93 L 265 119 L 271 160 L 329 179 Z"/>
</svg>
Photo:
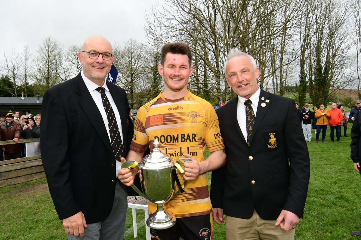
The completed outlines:
<svg viewBox="0 0 361 240">
<path fill-rule="evenodd" d="M 153 149 L 154 139 L 157 138 L 160 142 L 158 148 L 172 159 L 177 161 L 188 153 L 201 162 L 206 146 L 210 152 L 225 148 L 217 114 L 208 101 L 189 90 L 184 98 L 177 100 L 165 99 L 162 93 L 139 109 L 134 122 L 131 150 L 142 153 L 148 144 Z M 183 183 L 183 175 L 179 174 L 179 179 Z M 149 213 L 156 209 L 156 204 L 148 204 Z M 165 203 L 164 209 L 175 217 L 211 213 L 206 175 L 188 181 L 184 193 Z"/>
</svg>

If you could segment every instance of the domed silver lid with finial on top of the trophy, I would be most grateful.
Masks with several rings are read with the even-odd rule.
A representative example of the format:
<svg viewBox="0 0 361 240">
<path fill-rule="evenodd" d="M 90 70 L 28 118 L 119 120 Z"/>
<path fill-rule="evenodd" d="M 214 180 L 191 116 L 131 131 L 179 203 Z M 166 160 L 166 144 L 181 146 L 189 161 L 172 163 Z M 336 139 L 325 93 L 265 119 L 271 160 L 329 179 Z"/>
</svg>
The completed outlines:
<svg viewBox="0 0 361 240">
<path fill-rule="evenodd" d="M 153 142 L 153 150 L 150 154 L 143 158 L 143 162 L 139 164 L 140 168 L 143 169 L 162 169 L 168 168 L 174 165 L 170 157 L 167 154 L 162 153 L 158 148 L 159 141 L 155 139 Z"/>
</svg>

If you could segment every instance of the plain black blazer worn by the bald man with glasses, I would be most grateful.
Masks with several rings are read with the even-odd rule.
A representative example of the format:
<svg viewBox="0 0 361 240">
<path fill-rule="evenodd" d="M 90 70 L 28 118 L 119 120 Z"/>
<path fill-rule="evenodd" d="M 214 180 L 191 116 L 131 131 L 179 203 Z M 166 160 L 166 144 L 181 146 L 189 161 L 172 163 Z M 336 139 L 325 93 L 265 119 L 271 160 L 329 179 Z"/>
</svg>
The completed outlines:
<svg viewBox="0 0 361 240">
<path fill-rule="evenodd" d="M 126 156 L 132 138 L 127 96 L 120 87 L 106 84 L 121 118 Z M 103 118 L 81 74 L 45 92 L 40 138 L 59 218 L 82 211 L 87 223 L 102 221 L 113 206 L 116 160 Z"/>
</svg>

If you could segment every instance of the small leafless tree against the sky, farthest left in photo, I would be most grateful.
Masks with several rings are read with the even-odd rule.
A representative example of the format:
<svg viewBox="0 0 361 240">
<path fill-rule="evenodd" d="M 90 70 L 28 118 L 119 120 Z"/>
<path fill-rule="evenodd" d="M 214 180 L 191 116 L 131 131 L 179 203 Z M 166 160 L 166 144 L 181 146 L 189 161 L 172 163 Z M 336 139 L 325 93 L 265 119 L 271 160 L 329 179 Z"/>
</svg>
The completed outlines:
<svg viewBox="0 0 361 240">
<path fill-rule="evenodd" d="M 14 95 L 17 94 L 17 84 L 19 82 L 19 73 L 21 70 L 21 59 L 18 52 L 12 48 L 10 55 L 6 55 L 4 51 L 4 62 L 1 64 L 1 70 L 10 76 L 12 81 L 14 82 Z"/>
</svg>

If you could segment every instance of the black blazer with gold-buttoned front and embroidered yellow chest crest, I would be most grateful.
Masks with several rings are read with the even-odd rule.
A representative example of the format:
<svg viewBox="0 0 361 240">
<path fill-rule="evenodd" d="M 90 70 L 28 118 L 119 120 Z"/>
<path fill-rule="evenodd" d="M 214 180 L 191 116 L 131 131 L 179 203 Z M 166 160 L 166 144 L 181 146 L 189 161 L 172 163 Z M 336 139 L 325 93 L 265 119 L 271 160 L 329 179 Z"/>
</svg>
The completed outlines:
<svg viewBox="0 0 361 240">
<path fill-rule="evenodd" d="M 277 219 L 282 209 L 302 217 L 310 162 L 295 101 L 261 90 L 249 147 L 237 104 L 238 97 L 216 111 L 227 162 L 212 172 L 212 206 L 243 219 L 254 209 L 264 220 Z"/>
</svg>

